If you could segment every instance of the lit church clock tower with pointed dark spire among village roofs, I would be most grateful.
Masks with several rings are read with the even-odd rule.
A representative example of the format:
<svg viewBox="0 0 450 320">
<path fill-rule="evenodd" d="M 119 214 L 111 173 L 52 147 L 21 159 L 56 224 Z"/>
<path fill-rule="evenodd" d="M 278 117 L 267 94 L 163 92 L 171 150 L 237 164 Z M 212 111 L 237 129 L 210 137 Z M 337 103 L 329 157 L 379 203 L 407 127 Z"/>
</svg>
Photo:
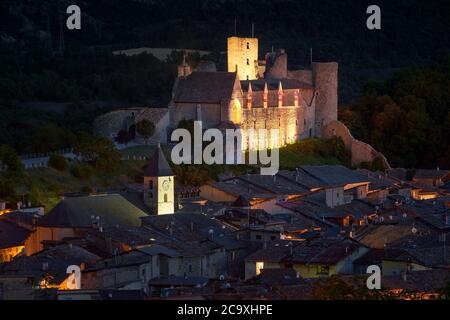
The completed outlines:
<svg viewBox="0 0 450 320">
<path fill-rule="evenodd" d="M 144 171 L 144 201 L 157 215 L 175 212 L 174 178 L 158 144 L 158 149 Z"/>
</svg>

